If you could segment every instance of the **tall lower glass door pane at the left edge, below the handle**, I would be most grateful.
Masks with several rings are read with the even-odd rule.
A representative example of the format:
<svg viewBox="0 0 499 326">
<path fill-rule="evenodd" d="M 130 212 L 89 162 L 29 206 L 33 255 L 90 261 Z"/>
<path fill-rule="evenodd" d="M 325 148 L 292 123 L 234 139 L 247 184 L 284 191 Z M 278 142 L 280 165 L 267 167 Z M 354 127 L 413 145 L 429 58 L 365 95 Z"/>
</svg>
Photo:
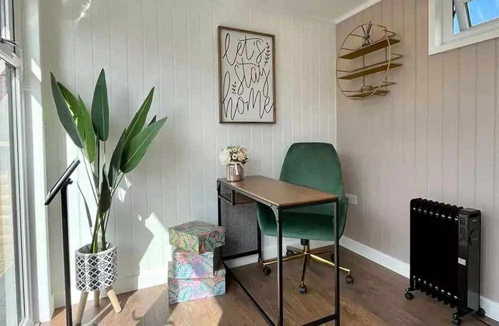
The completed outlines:
<svg viewBox="0 0 499 326">
<path fill-rule="evenodd" d="M 23 319 L 17 197 L 14 68 L 0 59 L 0 325 Z"/>
</svg>

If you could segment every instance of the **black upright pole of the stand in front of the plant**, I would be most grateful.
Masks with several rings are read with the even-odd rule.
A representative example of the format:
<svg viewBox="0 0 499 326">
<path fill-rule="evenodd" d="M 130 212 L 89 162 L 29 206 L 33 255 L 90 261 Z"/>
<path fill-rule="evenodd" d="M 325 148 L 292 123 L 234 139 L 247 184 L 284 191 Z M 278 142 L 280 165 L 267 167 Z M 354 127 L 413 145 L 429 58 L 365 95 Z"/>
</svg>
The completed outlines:
<svg viewBox="0 0 499 326">
<path fill-rule="evenodd" d="M 64 261 L 64 293 L 66 296 L 66 325 L 73 325 L 71 311 L 71 279 L 69 274 L 69 235 L 67 226 L 67 186 L 73 183 L 67 179 L 61 188 L 61 217 L 62 217 L 62 259 Z"/>
</svg>

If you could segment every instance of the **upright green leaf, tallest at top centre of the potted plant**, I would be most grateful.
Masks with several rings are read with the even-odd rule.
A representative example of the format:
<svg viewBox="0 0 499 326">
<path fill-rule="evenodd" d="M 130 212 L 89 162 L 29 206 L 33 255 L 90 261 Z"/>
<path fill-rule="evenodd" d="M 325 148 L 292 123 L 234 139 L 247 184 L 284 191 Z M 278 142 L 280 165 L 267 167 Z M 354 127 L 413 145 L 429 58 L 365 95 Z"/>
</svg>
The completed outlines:
<svg viewBox="0 0 499 326">
<path fill-rule="evenodd" d="M 100 71 L 92 100 L 92 123 L 95 135 L 105 142 L 109 137 L 109 103 L 107 101 L 106 73 Z"/>
</svg>

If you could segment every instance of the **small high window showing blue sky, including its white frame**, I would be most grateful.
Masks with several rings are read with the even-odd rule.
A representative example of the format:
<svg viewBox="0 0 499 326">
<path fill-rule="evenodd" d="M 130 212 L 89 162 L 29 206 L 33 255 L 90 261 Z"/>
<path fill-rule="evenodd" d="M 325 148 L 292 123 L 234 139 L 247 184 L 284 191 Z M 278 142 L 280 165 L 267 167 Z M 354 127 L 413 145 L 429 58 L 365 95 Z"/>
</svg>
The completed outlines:
<svg viewBox="0 0 499 326">
<path fill-rule="evenodd" d="M 429 52 L 499 37 L 499 1 L 430 0 Z"/>
</svg>

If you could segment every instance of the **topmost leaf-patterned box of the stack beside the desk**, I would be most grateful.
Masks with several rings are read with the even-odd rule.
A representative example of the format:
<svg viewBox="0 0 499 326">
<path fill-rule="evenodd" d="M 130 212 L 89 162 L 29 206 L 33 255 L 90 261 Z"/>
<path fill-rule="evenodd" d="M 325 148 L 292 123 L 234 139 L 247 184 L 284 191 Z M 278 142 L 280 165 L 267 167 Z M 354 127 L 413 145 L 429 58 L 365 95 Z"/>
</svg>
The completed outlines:
<svg viewBox="0 0 499 326">
<path fill-rule="evenodd" d="M 196 254 L 214 251 L 225 243 L 225 228 L 191 221 L 168 229 L 170 244 Z"/>
</svg>

